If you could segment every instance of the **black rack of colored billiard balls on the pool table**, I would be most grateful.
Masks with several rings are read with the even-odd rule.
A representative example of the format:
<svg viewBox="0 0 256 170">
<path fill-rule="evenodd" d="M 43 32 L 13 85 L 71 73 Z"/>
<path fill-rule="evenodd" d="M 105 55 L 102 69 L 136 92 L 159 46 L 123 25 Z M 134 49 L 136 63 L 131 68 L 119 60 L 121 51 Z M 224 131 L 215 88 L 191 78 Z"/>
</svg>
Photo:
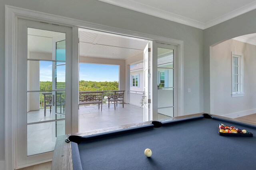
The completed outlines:
<svg viewBox="0 0 256 170">
<path fill-rule="evenodd" d="M 220 136 L 253 136 L 252 133 L 247 130 L 241 130 L 240 128 L 235 128 L 234 126 L 228 126 L 224 124 L 219 124 L 219 135 Z"/>
</svg>

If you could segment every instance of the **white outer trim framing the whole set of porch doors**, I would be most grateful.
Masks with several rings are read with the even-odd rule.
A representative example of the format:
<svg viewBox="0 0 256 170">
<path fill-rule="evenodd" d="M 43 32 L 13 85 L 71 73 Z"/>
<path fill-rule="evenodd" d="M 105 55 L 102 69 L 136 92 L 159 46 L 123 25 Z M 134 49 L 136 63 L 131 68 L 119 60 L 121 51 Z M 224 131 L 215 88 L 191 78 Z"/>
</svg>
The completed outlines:
<svg viewBox="0 0 256 170">
<path fill-rule="evenodd" d="M 5 5 L 5 168 L 10 170 L 17 168 L 17 27 L 18 18 L 27 20 L 48 22 L 51 24 L 59 24 L 62 26 L 70 26 L 73 30 L 72 36 L 72 51 L 73 51 L 73 72 L 72 72 L 72 133 L 78 132 L 78 27 L 90 30 L 97 30 L 117 35 L 129 36 L 145 40 L 155 40 L 167 44 L 176 45 L 178 48 L 178 113 L 183 115 L 183 48 L 184 42 L 182 40 L 175 40 L 172 38 L 165 38 L 145 34 L 142 32 L 135 32 L 111 26 L 104 26 L 101 24 L 94 24 L 73 18 L 47 14 L 43 12 L 18 8 L 14 6 Z M 156 87 L 152 87 L 156 88 Z M 157 112 L 157 106 L 152 106 L 153 112 Z M 50 160 L 41 162 L 34 162 L 27 164 L 30 166 Z M 19 167 L 22 168 L 22 167 Z"/>
</svg>

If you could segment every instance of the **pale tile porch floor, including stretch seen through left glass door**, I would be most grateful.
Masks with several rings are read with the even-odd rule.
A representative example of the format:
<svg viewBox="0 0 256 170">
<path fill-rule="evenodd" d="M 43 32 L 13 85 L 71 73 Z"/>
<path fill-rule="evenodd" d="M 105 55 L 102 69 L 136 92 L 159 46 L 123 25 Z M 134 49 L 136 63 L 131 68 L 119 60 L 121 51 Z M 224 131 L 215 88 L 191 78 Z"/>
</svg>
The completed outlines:
<svg viewBox="0 0 256 170">
<path fill-rule="evenodd" d="M 64 118 L 58 115 L 58 118 Z M 169 118 L 165 115 L 158 115 L 159 119 Z M 44 116 L 44 109 L 28 112 L 28 122 L 42 122 L 52 120 L 50 110 L 46 110 Z M 133 124 L 143 122 L 143 108 L 133 106 L 130 104 L 118 104 L 114 110 L 114 104 L 108 108 L 107 104 L 102 105 L 102 111 L 98 106 L 80 106 L 79 107 L 79 132 L 86 132 L 91 130 L 98 130 L 103 128 L 111 128 L 125 124 Z M 28 155 L 34 155 L 54 150 L 55 146 L 55 122 L 46 122 L 40 124 L 28 125 Z M 65 122 L 57 122 L 57 135 L 65 134 Z"/>
</svg>

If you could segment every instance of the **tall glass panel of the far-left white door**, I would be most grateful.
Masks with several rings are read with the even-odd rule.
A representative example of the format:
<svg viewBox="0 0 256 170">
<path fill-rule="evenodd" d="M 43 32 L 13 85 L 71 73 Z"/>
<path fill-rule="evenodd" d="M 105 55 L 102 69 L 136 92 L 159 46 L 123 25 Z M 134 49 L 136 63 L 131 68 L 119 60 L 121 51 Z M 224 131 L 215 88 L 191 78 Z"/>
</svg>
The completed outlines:
<svg viewBox="0 0 256 170">
<path fill-rule="evenodd" d="M 65 134 L 66 33 L 28 28 L 27 156 L 54 150 Z"/>
</svg>

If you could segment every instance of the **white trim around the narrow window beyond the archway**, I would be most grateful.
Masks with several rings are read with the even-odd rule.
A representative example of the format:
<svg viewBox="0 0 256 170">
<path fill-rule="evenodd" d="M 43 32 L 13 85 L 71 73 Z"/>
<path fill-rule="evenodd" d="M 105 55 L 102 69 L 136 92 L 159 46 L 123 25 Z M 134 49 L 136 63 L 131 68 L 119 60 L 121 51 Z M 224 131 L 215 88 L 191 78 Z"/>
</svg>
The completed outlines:
<svg viewBox="0 0 256 170">
<path fill-rule="evenodd" d="M 232 71 L 233 57 L 237 57 L 238 59 L 238 74 L 240 75 L 238 78 L 239 87 L 238 92 L 232 92 L 232 75 L 234 74 Z M 231 55 L 231 96 L 232 97 L 242 97 L 244 96 L 244 54 L 232 52 Z"/>
</svg>

